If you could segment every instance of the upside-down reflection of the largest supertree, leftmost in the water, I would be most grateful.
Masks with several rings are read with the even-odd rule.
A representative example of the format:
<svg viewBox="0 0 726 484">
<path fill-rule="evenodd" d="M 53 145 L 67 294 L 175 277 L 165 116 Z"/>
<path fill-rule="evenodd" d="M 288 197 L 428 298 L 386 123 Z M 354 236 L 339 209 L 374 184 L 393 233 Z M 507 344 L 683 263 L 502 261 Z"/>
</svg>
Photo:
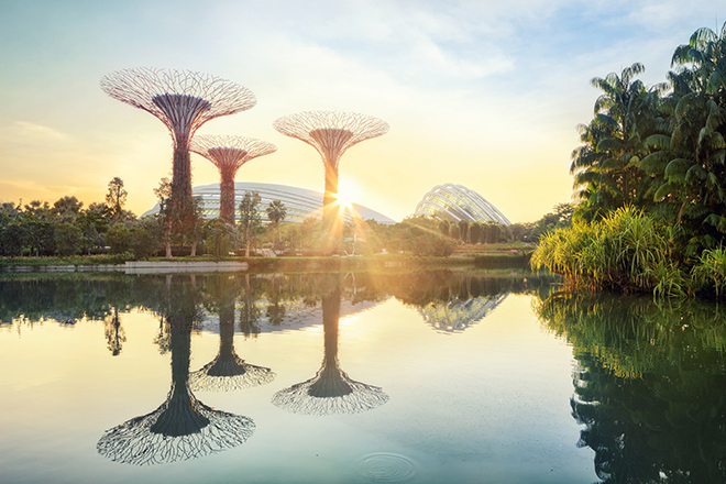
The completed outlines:
<svg viewBox="0 0 726 484">
<path fill-rule="evenodd" d="M 135 465 L 169 463 L 240 446 L 254 432 L 252 419 L 213 410 L 191 393 L 188 382 L 193 316 L 189 315 L 194 315 L 194 307 L 191 311 L 182 309 L 167 317 L 172 388 L 166 402 L 151 414 L 107 430 L 96 444 L 101 455 Z"/>
</svg>

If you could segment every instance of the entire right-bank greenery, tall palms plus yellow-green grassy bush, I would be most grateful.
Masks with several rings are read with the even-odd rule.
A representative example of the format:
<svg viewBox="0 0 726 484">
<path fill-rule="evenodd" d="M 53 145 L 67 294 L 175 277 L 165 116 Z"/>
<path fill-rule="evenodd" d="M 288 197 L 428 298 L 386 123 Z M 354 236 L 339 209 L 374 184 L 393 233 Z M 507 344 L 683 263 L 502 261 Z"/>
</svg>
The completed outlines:
<svg viewBox="0 0 726 484">
<path fill-rule="evenodd" d="M 602 91 L 572 154 L 571 228 L 540 239 L 534 265 L 572 288 L 726 294 L 726 23 L 675 48 L 666 81 L 632 64 Z"/>
</svg>

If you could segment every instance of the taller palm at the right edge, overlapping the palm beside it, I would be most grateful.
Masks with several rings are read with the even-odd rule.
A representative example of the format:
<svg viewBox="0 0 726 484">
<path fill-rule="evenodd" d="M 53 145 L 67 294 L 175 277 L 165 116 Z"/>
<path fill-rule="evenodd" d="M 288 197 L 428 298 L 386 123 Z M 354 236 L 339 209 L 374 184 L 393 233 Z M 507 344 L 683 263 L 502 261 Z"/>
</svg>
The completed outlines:
<svg viewBox="0 0 726 484">
<path fill-rule="evenodd" d="M 680 45 L 663 101 L 669 129 L 647 142 L 644 167 L 657 183 L 654 199 L 667 202 L 688 240 L 686 255 L 726 237 L 726 24 L 719 35 L 698 29 Z"/>
</svg>

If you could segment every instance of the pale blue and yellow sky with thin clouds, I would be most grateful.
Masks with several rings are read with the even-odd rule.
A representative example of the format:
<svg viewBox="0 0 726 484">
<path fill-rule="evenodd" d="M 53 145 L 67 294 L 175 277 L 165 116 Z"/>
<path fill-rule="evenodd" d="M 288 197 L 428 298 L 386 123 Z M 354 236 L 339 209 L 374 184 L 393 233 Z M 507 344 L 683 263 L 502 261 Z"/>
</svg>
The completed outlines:
<svg viewBox="0 0 726 484">
<path fill-rule="evenodd" d="M 206 73 L 257 105 L 198 134 L 262 139 L 277 152 L 237 182 L 322 191 L 309 145 L 272 127 L 300 111 L 361 112 L 387 134 L 351 147 L 340 176 L 395 220 L 437 185 L 477 191 L 512 222 L 571 201 L 576 127 L 590 80 L 639 62 L 666 80 L 679 44 L 726 21 L 716 0 L 0 0 L 0 201 L 103 201 L 121 177 L 127 208 L 153 207 L 170 177 L 172 138 L 103 94 L 133 67 Z M 219 182 L 193 154 L 193 184 Z"/>
</svg>

